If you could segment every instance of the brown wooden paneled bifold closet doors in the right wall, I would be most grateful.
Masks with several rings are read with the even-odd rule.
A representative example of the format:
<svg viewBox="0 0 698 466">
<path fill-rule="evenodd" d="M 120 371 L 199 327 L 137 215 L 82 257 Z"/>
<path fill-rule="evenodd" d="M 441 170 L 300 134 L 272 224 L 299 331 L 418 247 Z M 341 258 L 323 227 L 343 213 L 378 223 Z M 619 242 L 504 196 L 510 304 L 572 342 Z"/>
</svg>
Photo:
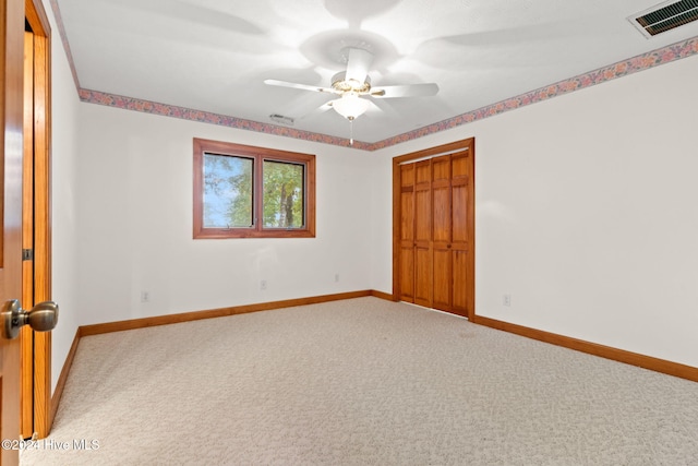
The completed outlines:
<svg viewBox="0 0 698 466">
<path fill-rule="evenodd" d="M 469 148 L 398 165 L 397 297 L 471 318 L 472 156 Z"/>
</svg>

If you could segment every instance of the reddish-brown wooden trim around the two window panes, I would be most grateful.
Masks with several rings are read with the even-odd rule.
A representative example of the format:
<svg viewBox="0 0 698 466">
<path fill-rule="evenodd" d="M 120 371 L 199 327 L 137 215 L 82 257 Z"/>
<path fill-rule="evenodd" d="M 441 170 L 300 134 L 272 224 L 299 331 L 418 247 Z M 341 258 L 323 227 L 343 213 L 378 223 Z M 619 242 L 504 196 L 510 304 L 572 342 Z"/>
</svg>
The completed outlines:
<svg viewBox="0 0 698 466">
<path fill-rule="evenodd" d="M 254 159 L 253 215 L 262 217 L 262 163 L 264 160 L 303 164 L 305 166 L 305 226 L 303 228 L 263 228 L 261 219 L 252 228 L 205 228 L 203 225 L 204 153 Z M 226 238 L 315 238 L 315 156 L 298 152 L 210 141 L 194 138 L 194 239 Z"/>
</svg>

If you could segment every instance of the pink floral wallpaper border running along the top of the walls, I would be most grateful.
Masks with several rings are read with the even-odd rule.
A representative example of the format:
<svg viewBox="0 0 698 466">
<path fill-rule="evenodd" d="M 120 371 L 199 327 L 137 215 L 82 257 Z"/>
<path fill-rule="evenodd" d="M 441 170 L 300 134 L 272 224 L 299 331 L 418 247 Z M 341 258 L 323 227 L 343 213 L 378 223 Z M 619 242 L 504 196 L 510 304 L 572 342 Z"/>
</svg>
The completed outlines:
<svg viewBox="0 0 698 466">
<path fill-rule="evenodd" d="M 212 113 L 208 111 L 194 110 L 184 107 L 177 107 L 167 104 L 159 104 L 133 97 L 119 96 L 99 91 L 82 88 L 77 79 L 77 73 L 75 72 L 75 65 L 73 62 L 72 53 L 70 51 L 70 44 L 68 43 L 68 37 L 63 28 L 63 22 L 61 20 L 58 2 L 57 0 L 50 0 L 50 3 L 56 16 L 56 21 L 58 23 L 63 48 L 70 62 L 70 68 L 73 73 L 73 80 L 75 81 L 75 86 L 77 87 L 77 93 L 82 101 L 105 105 L 108 107 L 116 107 L 125 110 L 159 115 L 163 117 L 180 118 L 190 121 L 198 121 L 202 123 L 218 124 L 240 130 L 255 131 L 285 138 L 293 138 L 303 141 L 318 142 L 345 147 L 351 146 L 353 148 L 363 151 L 377 151 L 441 131 L 450 130 L 462 124 L 468 124 L 473 121 L 494 117 L 508 110 L 514 110 L 527 105 L 535 104 L 538 101 L 547 100 L 559 95 L 583 89 L 595 84 L 601 84 L 606 81 L 623 77 L 638 71 L 648 70 L 660 64 L 670 63 L 672 61 L 676 61 L 682 58 L 690 57 L 698 53 L 698 37 L 694 37 L 647 53 L 639 55 L 637 57 L 629 58 L 624 61 L 619 61 L 617 63 L 613 63 L 604 68 L 600 68 L 585 74 L 580 74 L 575 77 L 570 77 L 568 80 L 550 84 L 539 89 L 531 91 L 526 94 L 521 94 L 516 97 L 512 97 L 496 104 L 479 108 L 477 110 L 458 115 L 437 123 L 429 124 L 426 127 L 419 128 L 407 133 L 398 134 L 383 141 L 378 141 L 375 143 L 354 141 L 353 145 L 350 145 L 349 140 L 345 138 L 337 138 L 327 134 L 281 127 L 277 124 L 263 123 L 226 115 Z"/>
</svg>

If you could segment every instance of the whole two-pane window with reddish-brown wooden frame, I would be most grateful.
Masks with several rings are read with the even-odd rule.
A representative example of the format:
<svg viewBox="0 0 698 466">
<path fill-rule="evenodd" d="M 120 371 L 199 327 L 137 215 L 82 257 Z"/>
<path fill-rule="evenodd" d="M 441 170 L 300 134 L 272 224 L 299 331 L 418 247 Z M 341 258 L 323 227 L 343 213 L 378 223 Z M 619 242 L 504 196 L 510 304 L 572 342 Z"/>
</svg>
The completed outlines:
<svg viewBox="0 0 698 466">
<path fill-rule="evenodd" d="M 194 238 L 314 237 L 314 155 L 194 139 Z"/>
</svg>

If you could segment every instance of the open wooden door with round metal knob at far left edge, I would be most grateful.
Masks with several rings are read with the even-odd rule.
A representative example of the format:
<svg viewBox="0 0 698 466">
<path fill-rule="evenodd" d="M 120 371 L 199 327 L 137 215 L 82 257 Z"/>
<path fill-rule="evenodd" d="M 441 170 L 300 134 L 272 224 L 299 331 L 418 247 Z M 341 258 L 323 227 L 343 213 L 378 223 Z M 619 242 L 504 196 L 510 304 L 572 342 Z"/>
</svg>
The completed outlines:
<svg viewBox="0 0 698 466">
<path fill-rule="evenodd" d="M 22 96 L 24 1 L 0 0 L 0 304 L 22 292 Z M 20 342 L 0 338 L 0 440 L 20 438 Z M 16 450 L 0 449 L 3 466 Z"/>
</svg>

